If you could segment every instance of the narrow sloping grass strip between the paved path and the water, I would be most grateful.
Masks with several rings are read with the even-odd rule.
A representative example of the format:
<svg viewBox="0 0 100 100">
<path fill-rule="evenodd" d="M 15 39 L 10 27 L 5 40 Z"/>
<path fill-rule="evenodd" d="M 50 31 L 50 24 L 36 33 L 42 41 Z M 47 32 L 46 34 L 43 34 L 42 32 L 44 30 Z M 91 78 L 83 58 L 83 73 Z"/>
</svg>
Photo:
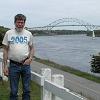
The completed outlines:
<svg viewBox="0 0 100 100">
<path fill-rule="evenodd" d="M 86 78 L 86 79 L 94 81 L 96 83 L 100 83 L 100 77 L 99 76 L 94 76 L 92 74 L 89 74 L 89 73 L 86 73 L 86 72 L 82 72 L 80 70 L 74 69 L 74 68 L 69 67 L 69 66 L 63 66 L 63 65 L 57 64 L 57 63 L 55 63 L 53 61 L 40 59 L 40 58 L 37 58 L 37 57 L 34 57 L 34 58 L 35 58 L 34 60 L 37 61 L 37 62 L 46 64 L 46 65 L 51 66 L 53 68 L 57 68 L 57 69 L 60 69 L 62 71 L 74 74 L 74 75 L 77 75 L 79 77 Z"/>
</svg>

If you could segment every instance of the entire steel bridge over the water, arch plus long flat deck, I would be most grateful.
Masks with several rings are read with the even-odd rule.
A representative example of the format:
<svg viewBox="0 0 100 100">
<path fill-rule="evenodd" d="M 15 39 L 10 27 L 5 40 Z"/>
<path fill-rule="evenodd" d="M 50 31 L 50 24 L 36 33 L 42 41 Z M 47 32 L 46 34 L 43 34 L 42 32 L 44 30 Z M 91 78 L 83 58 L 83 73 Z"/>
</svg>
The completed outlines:
<svg viewBox="0 0 100 100">
<path fill-rule="evenodd" d="M 60 25 L 61 23 L 65 23 L 65 22 L 66 22 L 66 25 Z M 68 25 L 69 22 L 76 23 L 76 24 Z M 54 27 L 62 27 L 62 26 L 82 26 L 82 27 L 85 27 L 87 29 L 87 31 L 88 30 L 93 31 L 93 30 L 96 30 L 98 28 L 100 29 L 100 25 L 93 25 L 93 24 L 87 23 L 87 22 L 80 20 L 80 19 L 77 19 L 77 18 L 62 18 L 62 19 L 55 20 L 46 26 L 28 28 L 28 30 L 47 30 L 47 31 L 50 31 Z"/>
</svg>

